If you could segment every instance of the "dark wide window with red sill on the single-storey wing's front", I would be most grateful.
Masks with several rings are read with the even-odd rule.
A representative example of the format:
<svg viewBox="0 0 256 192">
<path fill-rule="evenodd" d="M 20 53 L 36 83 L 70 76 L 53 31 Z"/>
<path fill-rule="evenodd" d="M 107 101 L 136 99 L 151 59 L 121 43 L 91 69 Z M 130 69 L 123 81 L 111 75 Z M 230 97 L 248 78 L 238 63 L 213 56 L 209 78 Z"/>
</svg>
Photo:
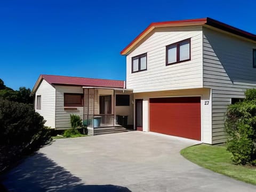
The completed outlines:
<svg viewBox="0 0 256 192">
<path fill-rule="evenodd" d="M 64 93 L 64 107 L 82 107 L 83 94 Z"/>
</svg>

